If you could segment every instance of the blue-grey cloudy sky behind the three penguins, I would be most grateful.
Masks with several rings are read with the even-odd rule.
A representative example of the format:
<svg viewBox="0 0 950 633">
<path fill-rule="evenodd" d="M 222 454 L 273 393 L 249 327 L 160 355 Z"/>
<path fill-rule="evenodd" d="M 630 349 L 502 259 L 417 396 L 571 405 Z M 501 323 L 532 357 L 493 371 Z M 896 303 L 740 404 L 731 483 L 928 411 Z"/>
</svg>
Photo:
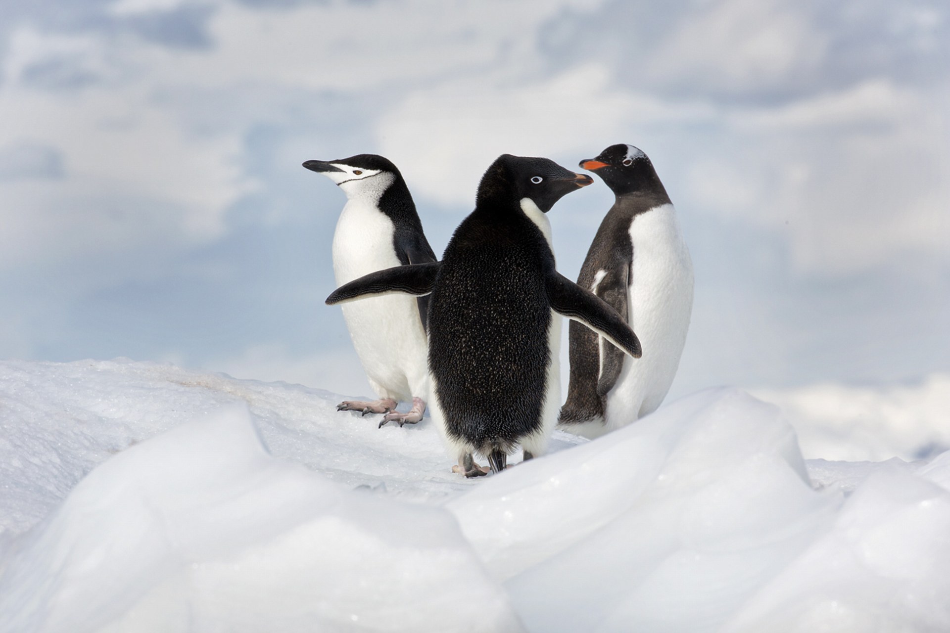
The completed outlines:
<svg viewBox="0 0 950 633">
<path fill-rule="evenodd" d="M 2 0 L 0 121 L 0 358 L 369 394 L 301 162 L 390 158 L 440 253 L 498 155 L 625 142 L 693 256 L 673 396 L 950 371 L 940 0 Z M 550 212 L 568 277 L 612 200 Z"/>
</svg>

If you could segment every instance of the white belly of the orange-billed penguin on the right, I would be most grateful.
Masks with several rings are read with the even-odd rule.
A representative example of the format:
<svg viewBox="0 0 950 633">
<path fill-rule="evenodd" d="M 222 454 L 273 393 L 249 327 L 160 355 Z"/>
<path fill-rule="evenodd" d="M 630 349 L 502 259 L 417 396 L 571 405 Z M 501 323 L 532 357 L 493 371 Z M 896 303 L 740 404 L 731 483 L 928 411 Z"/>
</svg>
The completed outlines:
<svg viewBox="0 0 950 633">
<path fill-rule="evenodd" d="M 607 396 L 605 432 L 652 413 L 666 397 L 693 310 L 693 263 L 673 205 L 637 215 L 630 237 L 634 263 L 627 299 L 630 326 L 643 356 L 623 360 L 618 382 Z"/>
</svg>

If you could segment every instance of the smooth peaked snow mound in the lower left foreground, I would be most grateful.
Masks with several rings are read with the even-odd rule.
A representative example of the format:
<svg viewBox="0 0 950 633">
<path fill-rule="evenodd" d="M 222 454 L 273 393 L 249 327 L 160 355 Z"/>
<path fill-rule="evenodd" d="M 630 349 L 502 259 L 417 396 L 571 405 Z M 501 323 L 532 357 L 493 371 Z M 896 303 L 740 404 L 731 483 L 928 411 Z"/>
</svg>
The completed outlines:
<svg viewBox="0 0 950 633">
<path fill-rule="evenodd" d="M 28 536 L 4 630 L 520 630 L 446 511 L 267 455 L 246 407 L 108 460 Z"/>
</svg>

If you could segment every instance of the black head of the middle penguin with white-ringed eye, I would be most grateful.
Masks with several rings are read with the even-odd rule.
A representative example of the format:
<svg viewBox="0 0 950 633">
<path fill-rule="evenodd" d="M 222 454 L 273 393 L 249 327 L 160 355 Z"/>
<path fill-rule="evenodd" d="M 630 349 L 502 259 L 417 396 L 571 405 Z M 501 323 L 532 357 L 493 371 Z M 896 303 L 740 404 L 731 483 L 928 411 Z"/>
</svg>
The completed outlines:
<svg viewBox="0 0 950 633">
<path fill-rule="evenodd" d="M 503 154 L 491 163 L 478 187 L 477 204 L 520 206 L 525 198 L 545 214 L 564 195 L 594 182 L 575 174 L 549 158 L 529 158 Z"/>
</svg>

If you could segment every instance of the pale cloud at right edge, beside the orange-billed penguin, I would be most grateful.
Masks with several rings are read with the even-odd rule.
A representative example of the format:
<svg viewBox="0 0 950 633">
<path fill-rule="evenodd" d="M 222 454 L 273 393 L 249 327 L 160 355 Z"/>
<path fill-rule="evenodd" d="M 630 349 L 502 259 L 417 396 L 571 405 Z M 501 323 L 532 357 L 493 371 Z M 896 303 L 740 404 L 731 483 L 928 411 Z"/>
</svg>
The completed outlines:
<svg viewBox="0 0 950 633">
<path fill-rule="evenodd" d="M 940 94 L 875 80 L 735 108 L 728 146 L 700 147 L 693 204 L 788 235 L 797 270 L 836 276 L 896 262 L 950 265 L 950 152 Z"/>
</svg>

